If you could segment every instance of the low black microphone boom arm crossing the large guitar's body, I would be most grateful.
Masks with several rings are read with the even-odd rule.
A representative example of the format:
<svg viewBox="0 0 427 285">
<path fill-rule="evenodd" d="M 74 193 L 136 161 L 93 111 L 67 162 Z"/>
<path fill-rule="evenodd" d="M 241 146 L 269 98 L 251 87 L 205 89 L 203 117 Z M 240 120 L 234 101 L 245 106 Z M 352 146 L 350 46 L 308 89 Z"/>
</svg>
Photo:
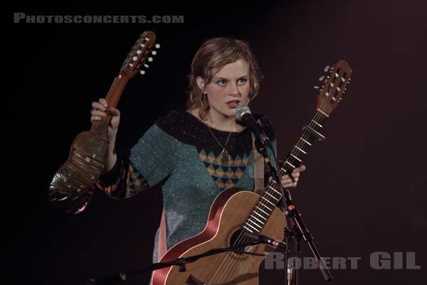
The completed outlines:
<svg viewBox="0 0 427 285">
<path fill-rule="evenodd" d="M 85 282 L 84 284 L 115 285 L 119 282 L 126 281 L 128 276 L 134 276 L 134 275 L 141 274 L 141 273 L 144 273 L 147 271 L 154 271 L 157 269 L 162 269 L 162 268 L 168 267 L 168 266 L 179 266 L 179 271 L 184 272 L 184 271 L 186 271 L 185 264 L 194 262 L 198 259 L 201 259 L 202 257 L 209 257 L 210 255 L 220 254 L 222 252 L 238 252 L 239 254 L 251 254 L 251 255 L 258 255 L 258 256 L 264 257 L 265 256 L 264 254 L 257 254 L 255 252 L 237 251 L 238 249 L 248 247 L 248 246 L 253 246 L 256 244 L 261 244 L 261 243 L 265 243 L 265 242 L 263 242 L 260 239 L 254 239 L 254 240 L 251 240 L 251 242 L 246 242 L 245 244 L 238 244 L 238 245 L 233 246 L 233 247 L 211 249 L 207 252 L 204 252 L 203 254 L 197 254 L 197 255 L 194 255 L 192 257 L 181 257 L 179 259 L 174 259 L 172 261 L 150 264 L 149 266 L 142 267 L 142 269 L 136 269 L 136 270 L 128 271 L 125 273 L 113 274 L 110 276 L 101 277 L 99 279 L 90 279 L 89 282 Z M 198 281 L 195 281 L 194 284 L 198 284 Z"/>
</svg>

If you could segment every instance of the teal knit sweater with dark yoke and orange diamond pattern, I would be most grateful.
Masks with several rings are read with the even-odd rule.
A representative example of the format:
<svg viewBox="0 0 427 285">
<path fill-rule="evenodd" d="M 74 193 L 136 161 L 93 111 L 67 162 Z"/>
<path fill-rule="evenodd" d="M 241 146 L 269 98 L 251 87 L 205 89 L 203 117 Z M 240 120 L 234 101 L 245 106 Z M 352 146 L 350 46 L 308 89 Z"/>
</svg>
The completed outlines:
<svg viewBox="0 0 427 285">
<path fill-rule="evenodd" d="M 268 119 L 253 116 L 275 147 Z M 230 133 L 211 130 L 224 145 Z M 171 111 L 147 130 L 129 154 L 117 153 L 115 166 L 100 178 L 98 187 L 116 199 L 162 183 L 165 237 L 159 237 L 157 230 L 153 262 L 157 262 L 159 239 L 166 239 L 169 249 L 204 229 L 211 204 L 222 190 L 254 190 L 251 132 L 231 133 L 226 145 L 231 160 L 226 165 L 217 159 L 221 150 L 207 125 L 186 111 Z M 271 152 L 269 156 L 275 163 Z"/>
</svg>

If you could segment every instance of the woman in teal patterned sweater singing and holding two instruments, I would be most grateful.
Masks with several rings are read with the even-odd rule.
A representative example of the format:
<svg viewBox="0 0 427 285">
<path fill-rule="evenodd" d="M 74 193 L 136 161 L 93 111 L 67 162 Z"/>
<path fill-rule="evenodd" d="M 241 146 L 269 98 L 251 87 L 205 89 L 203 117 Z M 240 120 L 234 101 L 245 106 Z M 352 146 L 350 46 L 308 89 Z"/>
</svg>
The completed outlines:
<svg viewBox="0 0 427 285">
<path fill-rule="evenodd" d="M 92 123 L 107 113 L 113 115 L 108 162 L 98 186 L 111 197 L 127 198 L 162 182 L 164 211 L 154 262 L 177 242 L 204 229 L 221 190 L 254 190 L 252 135 L 235 115 L 239 105 L 248 105 L 257 95 L 260 78 L 247 43 L 233 38 L 206 41 L 191 64 L 186 110 L 159 118 L 130 155 L 115 153 L 119 110 L 108 108 L 103 98 L 93 102 Z M 268 119 L 255 117 L 275 146 Z M 284 176 L 283 187 L 295 187 L 304 170 L 301 165 L 292 172 L 292 179 Z"/>
</svg>

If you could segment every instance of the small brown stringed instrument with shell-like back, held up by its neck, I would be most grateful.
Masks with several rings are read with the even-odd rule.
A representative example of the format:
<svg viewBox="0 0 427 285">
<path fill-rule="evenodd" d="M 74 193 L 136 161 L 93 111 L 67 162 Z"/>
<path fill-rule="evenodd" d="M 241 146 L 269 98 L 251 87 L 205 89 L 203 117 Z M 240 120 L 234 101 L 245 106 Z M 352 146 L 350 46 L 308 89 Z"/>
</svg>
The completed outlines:
<svg viewBox="0 0 427 285">
<path fill-rule="evenodd" d="M 110 108 L 115 108 L 127 82 L 137 73 L 142 75 L 148 68 L 148 62 L 159 48 L 155 43 L 156 35 L 152 31 L 144 31 L 120 68 L 105 100 Z M 88 204 L 95 183 L 100 177 L 108 158 L 108 124 L 112 116 L 93 123 L 89 131 L 78 134 L 73 140 L 68 160 L 53 175 L 49 186 L 49 199 L 56 206 L 70 214 L 77 214 Z"/>
</svg>

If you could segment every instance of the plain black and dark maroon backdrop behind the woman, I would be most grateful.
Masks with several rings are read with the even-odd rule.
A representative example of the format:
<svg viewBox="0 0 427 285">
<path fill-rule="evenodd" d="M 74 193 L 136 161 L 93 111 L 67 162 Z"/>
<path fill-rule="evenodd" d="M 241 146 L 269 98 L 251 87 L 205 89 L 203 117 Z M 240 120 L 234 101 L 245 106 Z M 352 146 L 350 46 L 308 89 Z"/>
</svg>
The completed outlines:
<svg viewBox="0 0 427 285">
<path fill-rule="evenodd" d="M 14 12 L 100 14 L 23 6 Z M 424 1 L 273 1 L 103 12 L 184 15 L 184 24 L 14 24 L 8 14 L 6 277 L 13 284 L 81 284 L 151 262 L 158 187 L 126 200 L 97 192 L 75 216 L 53 209 L 47 190 L 73 138 L 90 128 L 90 103 L 105 97 L 139 34 L 152 30 L 162 48 L 122 95 L 120 147 L 132 147 L 160 115 L 184 108 L 192 56 L 211 36 L 251 44 L 265 76 L 251 109 L 275 125 L 279 157 L 315 109 L 312 86 L 324 66 L 348 61 L 352 84 L 327 121 L 325 142 L 307 156 L 294 202 L 324 257 L 361 258 L 358 269 L 333 270 L 334 284 L 420 284 L 427 266 L 426 12 Z M 373 252 L 416 252 L 421 270 L 372 269 Z M 310 256 L 305 244 L 302 254 Z M 301 284 L 323 283 L 317 270 L 300 276 Z M 285 284 L 282 278 L 283 271 L 263 271 L 261 284 Z M 148 280 L 142 274 L 127 284 Z"/>
</svg>

